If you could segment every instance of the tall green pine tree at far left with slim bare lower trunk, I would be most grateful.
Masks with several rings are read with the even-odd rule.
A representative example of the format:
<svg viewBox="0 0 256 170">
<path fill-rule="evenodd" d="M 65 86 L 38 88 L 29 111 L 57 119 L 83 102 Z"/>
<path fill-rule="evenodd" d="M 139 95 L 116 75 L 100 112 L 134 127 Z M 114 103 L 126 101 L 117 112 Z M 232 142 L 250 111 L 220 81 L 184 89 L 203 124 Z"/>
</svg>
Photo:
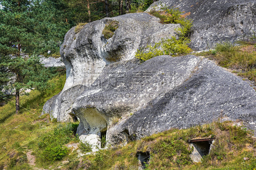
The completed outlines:
<svg viewBox="0 0 256 170">
<path fill-rule="evenodd" d="M 51 1 L 49 1 L 51 2 Z M 50 73 L 39 62 L 39 54 L 59 50 L 70 26 L 67 18 L 55 21 L 57 9 L 38 0 L 0 1 L 0 85 L 15 89 L 16 114 L 20 89 L 44 89 Z M 53 12 L 51 12 L 52 10 Z"/>
</svg>

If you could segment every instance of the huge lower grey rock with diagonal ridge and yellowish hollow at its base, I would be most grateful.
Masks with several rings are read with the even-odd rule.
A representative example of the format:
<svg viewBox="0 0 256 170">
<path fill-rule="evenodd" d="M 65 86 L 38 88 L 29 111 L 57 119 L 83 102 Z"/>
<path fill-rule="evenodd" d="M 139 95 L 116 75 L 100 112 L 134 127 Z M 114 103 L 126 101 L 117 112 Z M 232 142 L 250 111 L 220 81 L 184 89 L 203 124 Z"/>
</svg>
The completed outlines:
<svg viewBox="0 0 256 170">
<path fill-rule="evenodd" d="M 72 110 L 80 119 L 81 139 L 99 144 L 107 130 L 107 141 L 119 144 L 209 123 L 221 112 L 255 130 L 255 97 L 248 83 L 208 59 L 158 56 L 142 64 L 133 59 L 106 66 Z"/>
</svg>

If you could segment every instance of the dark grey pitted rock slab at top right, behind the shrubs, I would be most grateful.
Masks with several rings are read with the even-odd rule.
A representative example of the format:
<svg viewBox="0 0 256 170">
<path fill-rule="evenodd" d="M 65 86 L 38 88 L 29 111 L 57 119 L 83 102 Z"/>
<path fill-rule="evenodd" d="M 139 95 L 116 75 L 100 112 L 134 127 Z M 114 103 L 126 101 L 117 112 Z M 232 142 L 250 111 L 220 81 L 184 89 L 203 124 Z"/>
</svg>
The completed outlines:
<svg viewBox="0 0 256 170">
<path fill-rule="evenodd" d="M 187 18 L 194 24 L 190 44 L 194 50 L 212 48 L 220 41 L 235 42 L 256 32 L 255 0 L 159 0 L 147 12 L 160 10 L 161 4 L 189 14 Z"/>
</svg>

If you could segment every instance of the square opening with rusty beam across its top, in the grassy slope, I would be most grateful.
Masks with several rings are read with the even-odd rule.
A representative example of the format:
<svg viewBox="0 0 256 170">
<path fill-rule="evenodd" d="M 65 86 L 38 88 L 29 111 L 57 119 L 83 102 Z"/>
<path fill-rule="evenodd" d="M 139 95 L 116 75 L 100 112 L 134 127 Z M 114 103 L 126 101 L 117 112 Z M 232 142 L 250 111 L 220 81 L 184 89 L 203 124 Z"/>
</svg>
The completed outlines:
<svg viewBox="0 0 256 170">
<path fill-rule="evenodd" d="M 193 162 L 201 162 L 201 159 L 208 155 L 215 138 L 192 139 L 189 141 L 191 147 L 194 147 L 190 155 Z"/>
</svg>

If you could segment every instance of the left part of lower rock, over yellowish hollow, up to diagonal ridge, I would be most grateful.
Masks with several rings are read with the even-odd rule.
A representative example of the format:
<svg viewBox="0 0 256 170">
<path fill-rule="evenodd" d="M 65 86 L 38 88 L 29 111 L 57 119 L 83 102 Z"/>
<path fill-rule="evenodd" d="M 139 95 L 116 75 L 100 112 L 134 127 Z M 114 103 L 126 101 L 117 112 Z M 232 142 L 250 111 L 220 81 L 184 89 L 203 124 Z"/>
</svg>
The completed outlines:
<svg viewBox="0 0 256 170">
<path fill-rule="evenodd" d="M 147 106 L 150 100 L 186 81 L 199 61 L 193 56 L 181 60 L 161 56 L 143 64 L 133 59 L 106 66 L 72 106 L 80 119 L 78 135 L 85 140 L 91 134 L 100 136 L 120 117 Z"/>
</svg>

